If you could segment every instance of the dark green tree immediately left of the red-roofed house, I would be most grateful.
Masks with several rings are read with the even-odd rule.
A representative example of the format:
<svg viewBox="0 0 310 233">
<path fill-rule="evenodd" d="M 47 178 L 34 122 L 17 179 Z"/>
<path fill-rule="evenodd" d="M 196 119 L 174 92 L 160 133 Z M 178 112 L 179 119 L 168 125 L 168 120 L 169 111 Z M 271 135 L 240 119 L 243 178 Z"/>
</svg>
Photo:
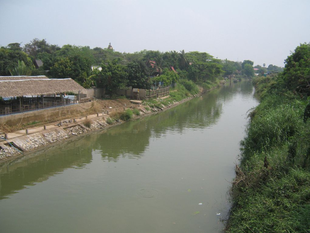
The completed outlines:
<svg viewBox="0 0 310 233">
<path fill-rule="evenodd" d="M 126 72 L 128 74 L 128 84 L 134 88 L 150 88 L 149 70 L 141 60 L 127 63 Z"/>
</svg>

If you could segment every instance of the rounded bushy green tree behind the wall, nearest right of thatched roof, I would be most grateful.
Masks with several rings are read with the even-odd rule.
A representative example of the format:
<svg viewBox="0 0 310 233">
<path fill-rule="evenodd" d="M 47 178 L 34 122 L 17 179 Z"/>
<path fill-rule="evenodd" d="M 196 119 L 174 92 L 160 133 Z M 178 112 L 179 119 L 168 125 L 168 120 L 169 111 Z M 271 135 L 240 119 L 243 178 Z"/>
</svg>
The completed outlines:
<svg viewBox="0 0 310 233">
<path fill-rule="evenodd" d="M 110 94 L 118 89 L 126 89 L 127 85 L 126 67 L 117 63 L 118 59 L 114 59 L 113 62 L 108 61 L 107 65 L 102 63 L 102 70 L 96 77 L 97 86 L 105 87 Z"/>
</svg>

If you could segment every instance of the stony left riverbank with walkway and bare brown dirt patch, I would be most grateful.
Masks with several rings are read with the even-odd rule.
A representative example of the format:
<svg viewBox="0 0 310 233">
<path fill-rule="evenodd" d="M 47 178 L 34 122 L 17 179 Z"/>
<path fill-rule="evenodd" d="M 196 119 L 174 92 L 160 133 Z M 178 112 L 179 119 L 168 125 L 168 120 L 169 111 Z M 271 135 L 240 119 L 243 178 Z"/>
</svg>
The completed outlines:
<svg viewBox="0 0 310 233">
<path fill-rule="evenodd" d="M 109 119 L 111 119 L 110 117 L 113 116 L 114 112 L 121 112 L 126 108 L 139 109 L 139 116 L 133 115 L 133 120 L 135 120 L 165 111 L 192 98 L 194 97 L 173 102 L 168 106 L 160 108 L 133 104 L 128 99 L 99 100 L 98 104 L 101 106 L 101 113 L 87 115 L 87 117 L 84 116 L 74 120 L 64 119 L 46 126 L 45 129 L 43 126 L 31 128 L 28 129 L 28 134 L 26 134 L 26 130 L 8 133 L 8 139 L 0 141 L 0 162 L 27 156 L 27 154 L 36 150 L 61 143 L 65 140 L 121 124 L 124 121 L 115 120 L 111 122 Z"/>
</svg>

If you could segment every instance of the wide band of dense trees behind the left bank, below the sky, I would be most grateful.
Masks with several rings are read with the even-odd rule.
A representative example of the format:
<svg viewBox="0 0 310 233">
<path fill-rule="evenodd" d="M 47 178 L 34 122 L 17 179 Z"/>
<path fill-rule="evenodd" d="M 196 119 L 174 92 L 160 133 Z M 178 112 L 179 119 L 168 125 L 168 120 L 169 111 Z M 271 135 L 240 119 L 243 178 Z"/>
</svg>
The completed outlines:
<svg viewBox="0 0 310 233">
<path fill-rule="evenodd" d="M 252 77 L 254 74 L 250 60 L 243 63 L 222 61 L 204 52 L 142 50 L 120 53 L 111 45 L 93 49 L 70 44 L 59 47 L 37 38 L 23 48 L 19 43 L 1 47 L 0 58 L 0 75 L 21 70 L 20 61 L 24 63 L 22 70 L 27 71 L 20 72 L 21 75 L 72 78 L 85 88 L 106 87 L 110 94 L 126 86 L 150 89 L 152 85 L 167 86 L 184 79 L 208 86 L 224 76 Z"/>
</svg>

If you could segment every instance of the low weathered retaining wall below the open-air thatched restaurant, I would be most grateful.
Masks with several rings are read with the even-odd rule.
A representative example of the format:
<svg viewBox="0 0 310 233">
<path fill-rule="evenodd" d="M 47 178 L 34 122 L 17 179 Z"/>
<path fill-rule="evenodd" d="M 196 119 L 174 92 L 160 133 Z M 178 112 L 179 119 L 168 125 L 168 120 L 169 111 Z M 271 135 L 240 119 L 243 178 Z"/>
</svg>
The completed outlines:
<svg viewBox="0 0 310 233">
<path fill-rule="evenodd" d="M 91 107 L 92 102 L 79 103 L 68 106 L 61 106 L 56 108 L 40 109 L 31 112 L 16 113 L 0 117 L 0 124 L 7 124 L 7 126 L 18 126 L 33 121 L 47 121 L 53 120 L 57 117 L 66 116 L 70 114 L 77 114 L 85 112 Z"/>
</svg>

